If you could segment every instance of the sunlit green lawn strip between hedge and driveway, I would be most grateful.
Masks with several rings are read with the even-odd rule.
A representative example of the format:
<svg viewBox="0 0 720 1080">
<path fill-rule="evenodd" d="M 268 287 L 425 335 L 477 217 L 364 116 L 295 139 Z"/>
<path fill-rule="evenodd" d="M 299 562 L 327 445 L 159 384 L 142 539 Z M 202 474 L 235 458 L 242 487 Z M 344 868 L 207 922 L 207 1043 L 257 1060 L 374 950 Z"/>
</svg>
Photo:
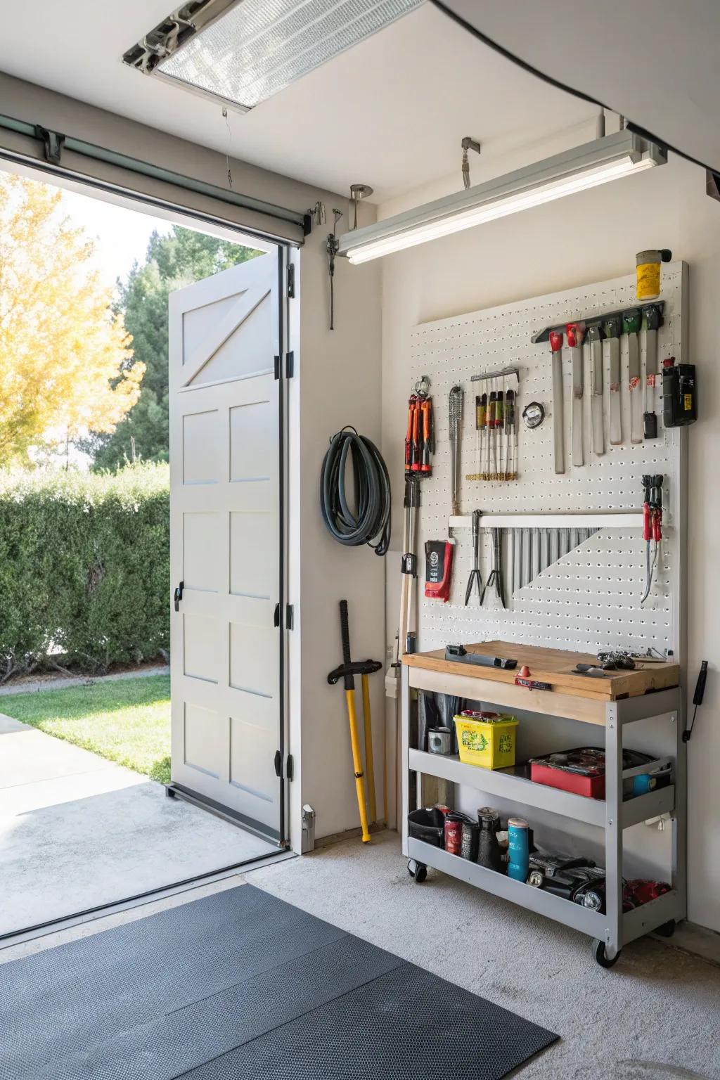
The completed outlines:
<svg viewBox="0 0 720 1080">
<path fill-rule="evenodd" d="M 169 676 L 123 678 L 0 697 L 0 713 L 169 781 Z"/>
</svg>

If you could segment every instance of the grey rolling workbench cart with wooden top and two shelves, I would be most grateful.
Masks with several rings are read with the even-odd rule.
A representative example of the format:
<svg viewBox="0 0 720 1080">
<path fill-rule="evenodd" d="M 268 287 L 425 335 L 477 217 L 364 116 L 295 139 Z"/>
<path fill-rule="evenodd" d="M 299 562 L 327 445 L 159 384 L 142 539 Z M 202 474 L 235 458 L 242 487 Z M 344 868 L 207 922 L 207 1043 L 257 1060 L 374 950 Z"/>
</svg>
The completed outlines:
<svg viewBox="0 0 720 1080">
<path fill-rule="evenodd" d="M 668 934 L 685 917 L 685 743 L 682 740 L 682 705 L 677 664 L 652 664 L 634 672 L 607 673 L 590 678 L 572 673 L 578 661 L 593 657 L 538 647 L 520 647 L 502 642 L 467 646 L 468 650 L 518 659 L 515 671 L 483 667 L 445 660 L 444 651 L 403 657 L 402 762 L 403 762 L 403 852 L 408 869 L 422 880 L 427 867 L 477 886 L 521 907 L 546 915 L 594 939 L 594 954 L 602 967 L 612 966 L 628 942 L 651 931 Z M 549 683 L 551 690 L 529 690 L 515 684 L 520 665 L 528 664 L 530 677 Z M 440 756 L 411 744 L 411 708 L 418 690 L 453 694 L 481 702 L 485 708 L 503 712 L 522 710 L 533 714 L 522 724 L 542 723 L 544 716 L 578 721 L 578 744 L 602 745 L 606 750 L 606 798 L 585 798 L 533 783 L 516 775 L 478 768 L 460 761 L 457 755 Z M 638 720 L 652 723 L 654 745 L 665 756 L 636 769 L 623 770 L 623 733 Z M 581 728 L 582 726 L 582 728 Z M 587 726 L 592 726 L 592 732 Z M 602 729 L 604 731 L 602 732 Z M 641 750 L 642 747 L 635 747 Z M 673 783 L 644 795 L 623 800 L 623 779 L 653 767 L 673 767 Z M 417 774 L 413 784 L 412 773 Z M 558 814 L 563 831 L 572 834 L 573 822 L 584 822 L 604 833 L 606 914 L 582 907 L 542 888 L 533 888 L 504 874 L 450 854 L 408 835 L 408 812 L 417 809 L 422 792 L 421 777 L 430 775 L 483 793 L 478 806 L 492 797 L 510 800 L 517 813 L 533 824 L 533 810 Z M 671 815 L 670 892 L 623 913 L 624 829 L 658 814 Z M 540 838 L 542 843 L 542 838 Z"/>
</svg>

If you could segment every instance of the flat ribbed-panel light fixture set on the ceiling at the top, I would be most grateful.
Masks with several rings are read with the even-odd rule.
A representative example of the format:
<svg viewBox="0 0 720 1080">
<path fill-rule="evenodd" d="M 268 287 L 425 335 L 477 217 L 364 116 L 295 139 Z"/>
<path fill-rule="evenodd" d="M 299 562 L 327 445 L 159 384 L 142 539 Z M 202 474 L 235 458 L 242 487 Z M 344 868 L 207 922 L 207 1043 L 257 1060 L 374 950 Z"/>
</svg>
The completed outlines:
<svg viewBox="0 0 720 1080">
<path fill-rule="evenodd" d="M 422 2 L 201 0 L 178 8 L 123 59 L 246 112 Z"/>
</svg>

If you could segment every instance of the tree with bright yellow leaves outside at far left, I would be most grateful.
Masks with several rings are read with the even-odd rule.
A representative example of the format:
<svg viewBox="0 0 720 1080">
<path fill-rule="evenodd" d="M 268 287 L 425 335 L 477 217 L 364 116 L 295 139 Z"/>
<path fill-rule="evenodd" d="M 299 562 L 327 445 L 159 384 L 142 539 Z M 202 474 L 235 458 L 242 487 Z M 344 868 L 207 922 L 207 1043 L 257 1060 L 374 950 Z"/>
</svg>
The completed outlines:
<svg viewBox="0 0 720 1080">
<path fill-rule="evenodd" d="M 62 199 L 0 174 L 0 467 L 60 433 L 113 431 L 140 392 L 145 364 Z"/>
</svg>

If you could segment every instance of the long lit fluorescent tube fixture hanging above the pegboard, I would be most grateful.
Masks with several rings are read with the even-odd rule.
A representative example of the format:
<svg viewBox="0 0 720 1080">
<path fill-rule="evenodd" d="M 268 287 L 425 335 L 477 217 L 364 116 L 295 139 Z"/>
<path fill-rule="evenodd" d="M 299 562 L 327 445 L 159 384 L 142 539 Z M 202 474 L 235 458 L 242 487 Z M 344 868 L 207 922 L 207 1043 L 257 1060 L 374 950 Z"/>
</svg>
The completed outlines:
<svg viewBox="0 0 720 1080">
<path fill-rule="evenodd" d="M 631 132 L 617 132 L 347 232 L 339 238 L 338 253 L 351 262 L 367 262 L 666 161 L 664 151 L 655 144 Z"/>
</svg>

